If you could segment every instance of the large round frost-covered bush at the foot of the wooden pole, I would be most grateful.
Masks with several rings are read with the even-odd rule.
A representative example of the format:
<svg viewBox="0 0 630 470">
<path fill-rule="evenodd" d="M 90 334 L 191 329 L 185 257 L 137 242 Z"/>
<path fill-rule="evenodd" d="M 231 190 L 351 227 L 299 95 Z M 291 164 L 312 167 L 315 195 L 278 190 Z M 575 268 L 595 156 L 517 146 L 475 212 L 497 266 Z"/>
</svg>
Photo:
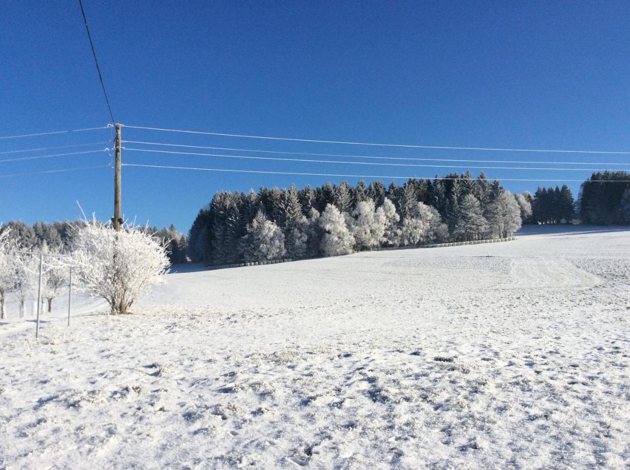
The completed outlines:
<svg viewBox="0 0 630 470">
<path fill-rule="evenodd" d="M 116 232 L 96 220 L 77 229 L 72 259 L 81 286 L 105 299 L 112 315 L 131 313 L 140 294 L 158 284 L 169 266 L 166 250 L 147 228 Z"/>
</svg>

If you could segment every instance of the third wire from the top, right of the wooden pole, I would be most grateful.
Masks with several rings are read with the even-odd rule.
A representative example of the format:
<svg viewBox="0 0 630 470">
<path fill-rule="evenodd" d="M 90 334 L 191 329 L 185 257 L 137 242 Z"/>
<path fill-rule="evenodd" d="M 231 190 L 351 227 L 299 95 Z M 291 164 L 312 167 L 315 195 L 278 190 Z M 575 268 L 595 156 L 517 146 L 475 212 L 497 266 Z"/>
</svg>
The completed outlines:
<svg viewBox="0 0 630 470">
<path fill-rule="evenodd" d="M 332 163 L 347 165 L 379 165 L 394 167 L 423 167 L 423 168 L 463 168 L 462 165 L 422 165 L 412 163 L 377 163 L 377 162 L 347 162 L 340 160 L 314 160 L 314 159 L 286 159 L 280 157 L 253 157 L 251 155 L 222 155 L 222 154 L 201 154 L 197 152 L 171 152 L 169 150 L 150 150 L 148 148 L 123 147 L 128 152 L 152 152 L 156 154 L 176 154 L 176 155 L 198 155 L 205 157 L 221 157 L 228 159 L 248 159 L 248 160 L 274 160 L 280 162 L 304 162 L 304 163 Z M 482 170 L 536 170 L 536 171 L 605 171 L 595 168 L 543 168 L 543 167 L 478 167 L 466 165 L 466 168 Z"/>
</svg>

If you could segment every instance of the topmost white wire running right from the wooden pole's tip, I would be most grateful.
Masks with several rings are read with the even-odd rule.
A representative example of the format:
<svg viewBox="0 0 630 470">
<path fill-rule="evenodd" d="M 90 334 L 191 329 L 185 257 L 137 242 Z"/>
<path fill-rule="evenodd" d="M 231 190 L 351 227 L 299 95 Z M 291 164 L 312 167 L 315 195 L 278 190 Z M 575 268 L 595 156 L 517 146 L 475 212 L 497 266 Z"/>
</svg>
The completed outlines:
<svg viewBox="0 0 630 470">
<path fill-rule="evenodd" d="M 203 134 L 203 135 L 218 135 L 221 137 L 241 137 L 241 138 L 259 138 L 266 140 L 289 140 L 292 142 L 312 142 L 312 143 L 340 143 L 345 145 L 371 145 L 375 147 L 406 147 L 406 148 L 436 148 L 441 150 L 486 150 L 490 152 L 551 152 L 558 154 L 617 154 L 617 155 L 630 155 L 630 152 L 608 152 L 599 150 L 542 150 L 532 148 L 491 148 L 491 147 L 444 147 L 440 145 L 403 145 L 399 143 L 367 143 L 367 142 L 344 142 L 340 140 L 316 140 L 307 138 L 290 138 L 290 137 L 267 137 L 262 135 L 244 135 L 244 134 L 226 134 L 219 132 L 202 132 L 202 131 L 190 131 L 179 129 L 164 129 L 159 127 L 142 127 L 142 126 L 127 126 L 131 129 L 144 129 L 144 130 L 156 130 L 166 132 L 182 132 L 188 134 Z"/>
</svg>

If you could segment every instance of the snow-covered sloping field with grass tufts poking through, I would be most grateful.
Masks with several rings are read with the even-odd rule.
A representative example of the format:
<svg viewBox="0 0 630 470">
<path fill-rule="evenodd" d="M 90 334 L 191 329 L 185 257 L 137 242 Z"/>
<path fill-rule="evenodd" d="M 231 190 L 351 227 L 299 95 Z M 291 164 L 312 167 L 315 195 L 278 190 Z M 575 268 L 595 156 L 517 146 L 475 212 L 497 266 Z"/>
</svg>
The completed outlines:
<svg viewBox="0 0 630 470">
<path fill-rule="evenodd" d="M 187 269 L 0 323 L 0 468 L 630 466 L 630 230 Z"/>
</svg>

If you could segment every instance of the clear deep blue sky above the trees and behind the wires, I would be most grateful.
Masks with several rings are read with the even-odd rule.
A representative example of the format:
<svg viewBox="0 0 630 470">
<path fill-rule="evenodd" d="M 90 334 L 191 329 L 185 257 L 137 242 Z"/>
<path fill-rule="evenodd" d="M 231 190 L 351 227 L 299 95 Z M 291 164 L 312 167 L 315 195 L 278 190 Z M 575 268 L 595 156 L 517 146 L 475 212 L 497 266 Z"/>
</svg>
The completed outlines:
<svg viewBox="0 0 630 470">
<path fill-rule="evenodd" d="M 115 119 L 126 125 L 356 142 L 630 149 L 627 1 L 84 0 L 84 7 Z M 76 0 L 3 1 L 0 44 L 0 135 L 109 122 Z M 0 152 L 110 138 L 109 130 L 101 130 L 7 139 L 0 140 Z M 125 139 L 330 154 L 600 162 L 597 168 L 605 167 L 601 162 L 630 161 L 627 155 L 366 148 L 133 129 L 123 129 Z M 0 159 L 61 152 L 1 154 Z M 105 165 L 109 158 L 103 152 L 0 162 L 0 176 Z M 300 164 L 125 151 L 123 161 L 400 176 L 468 168 Z M 343 180 L 123 170 L 125 216 L 152 225 L 175 223 L 184 232 L 220 189 Z M 500 179 L 590 175 L 486 173 Z M 354 184 L 358 178 L 348 181 Z M 111 169 L 2 177 L 0 185 L 2 221 L 76 218 L 77 200 L 87 213 L 102 219 L 112 215 Z M 537 183 L 505 186 L 533 192 Z M 579 184 L 570 187 L 577 196 Z"/>
</svg>

